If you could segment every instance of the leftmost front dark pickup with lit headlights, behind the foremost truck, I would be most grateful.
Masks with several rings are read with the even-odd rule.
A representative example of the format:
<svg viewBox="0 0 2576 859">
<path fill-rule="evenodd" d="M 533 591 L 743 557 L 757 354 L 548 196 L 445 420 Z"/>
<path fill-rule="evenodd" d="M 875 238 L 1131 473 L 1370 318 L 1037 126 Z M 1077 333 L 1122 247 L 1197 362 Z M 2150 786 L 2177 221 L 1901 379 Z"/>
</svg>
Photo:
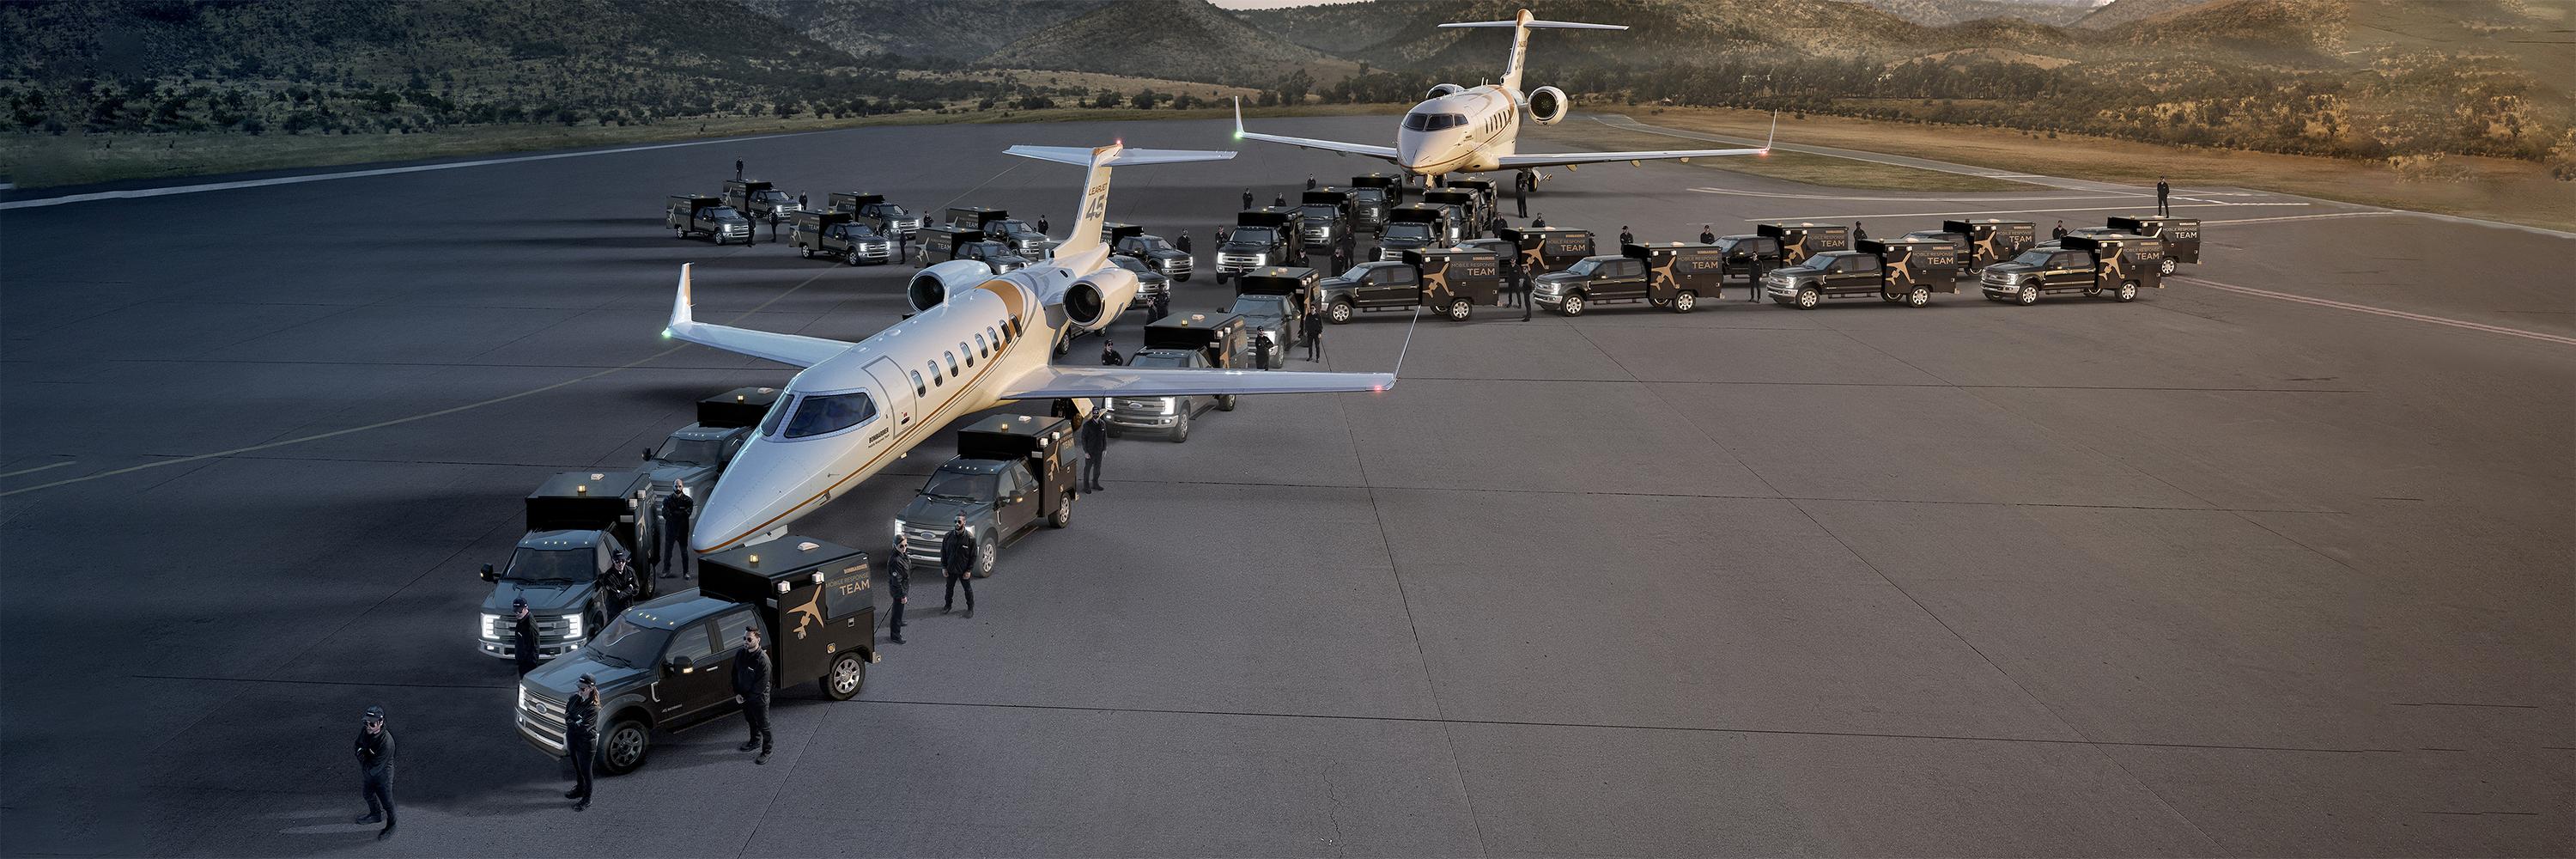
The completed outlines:
<svg viewBox="0 0 2576 859">
<path fill-rule="evenodd" d="M 528 534 L 510 549 L 510 565 L 482 565 L 492 593 L 482 601 L 482 655 L 518 658 L 513 601 L 528 601 L 536 619 L 536 658 L 556 658 L 600 632 L 605 598 L 600 573 L 616 552 L 654 544 L 652 477 L 644 472 L 562 472 L 528 493 Z M 641 568 L 641 555 L 634 555 Z M 649 575 L 639 575 L 652 591 Z"/>
</svg>

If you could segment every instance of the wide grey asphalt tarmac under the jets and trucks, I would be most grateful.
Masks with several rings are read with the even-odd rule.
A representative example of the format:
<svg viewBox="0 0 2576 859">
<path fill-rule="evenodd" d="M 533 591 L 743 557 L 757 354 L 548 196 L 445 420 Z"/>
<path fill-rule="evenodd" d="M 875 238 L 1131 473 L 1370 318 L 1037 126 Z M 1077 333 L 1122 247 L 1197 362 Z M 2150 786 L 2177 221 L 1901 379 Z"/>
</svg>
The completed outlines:
<svg viewBox="0 0 2576 859">
<path fill-rule="evenodd" d="M 788 689 L 768 766 L 726 720 L 572 813 L 469 637 L 518 498 L 788 377 L 657 335 L 680 263 L 701 320 L 904 310 L 902 268 L 672 240 L 662 199 L 742 157 L 1064 230 L 1077 170 L 999 150 L 1110 137 L 1231 147 L 860 129 L 0 212 L 0 851 L 2576 851 L 2576 240 L 2241 188 L 2177 193 L 2208 261 L 2133 304 L 1332 328 L 1399 387 L 1115 441 L 974 619 L 920 588 L 858 702 Z M 1118 170 L 1113 217 L 1208 268 L 1244 186 L 1370 170 L 1244 150 Z M 2136 193 L 1615 165 L 1533 209 L 1896 235 Z M 881 547 L 945 444 L 799 531 Z M 389 844 L 348 823 L 368 704 Z"/>
</svg>

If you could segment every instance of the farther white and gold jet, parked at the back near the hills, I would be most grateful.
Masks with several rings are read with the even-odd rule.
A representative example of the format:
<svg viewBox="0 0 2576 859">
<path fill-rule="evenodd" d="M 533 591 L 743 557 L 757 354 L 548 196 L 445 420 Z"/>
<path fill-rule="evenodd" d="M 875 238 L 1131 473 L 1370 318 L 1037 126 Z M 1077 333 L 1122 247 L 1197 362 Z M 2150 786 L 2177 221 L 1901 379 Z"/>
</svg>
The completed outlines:
<svg viewBox="0 0 2576 859">
<path fill-rule="evenodd" d="M 1311 137 L 1283 137 L 1283 134 L 1257 134 L 1244 132 L 1244 101 L 1234 101 L 1234 137 L 1265 139 L 1275 144 L 1342 152 L 1342 155 L 1368 155 L 1396 163 L 1404 173 L 1417 175 L 1443 175 L 1443 173 L 1486 173 L 1486 170 L 1533 170 L 1533 168 L 1569 168 L 1569 165 L 1595 165 L 1595 163 L 1638 163 L 1638 160 L 1690 160 L 1690 157 L 1721 157 L 1721 155 L 1770 155 L 1770 144 L 1759 150 L 1654 150 L 1654 152 L 1520 152 L 1520 121 L 1553 126 L 1566 119 L 1566 90 L 1538 88 L 1530 93 L 1520 90 L 1520 57 L 1530 46 L 1530 28 L 1577 28 L 1577 31 L 1625 31 L 1618 23 L 1574 23 L 1574 21 L 1535 21 L 1530 10 L 1520 10 L 1512 21 L 1466 21 L 1443 26 L 1510 26 L 1512 28 L 1512 62 L 1502 70 L 1499 85 L 1461 88 L 1455 83 L 1435 85 L 1430 101 L 1417 103 L 1404 114 L 1404 126 L 1396 129 L 1394 147 L 1355 144 L 1340 139 L 1311 139 Z M 1777 126 L 1775 126 L 1777 132 Z"/>
</svg>

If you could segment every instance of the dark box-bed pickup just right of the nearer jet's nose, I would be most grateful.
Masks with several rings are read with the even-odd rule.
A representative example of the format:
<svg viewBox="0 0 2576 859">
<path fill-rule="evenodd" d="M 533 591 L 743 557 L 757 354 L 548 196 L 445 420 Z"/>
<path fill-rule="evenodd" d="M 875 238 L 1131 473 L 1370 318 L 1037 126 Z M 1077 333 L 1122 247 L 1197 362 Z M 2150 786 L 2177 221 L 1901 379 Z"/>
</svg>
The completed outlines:
<svg viewBox="0 0 2576 859">
<path fill-rule="evenodd" d="M 958 431 L 956 459 L 943 462 L 899 513 L 912 570 L 940 568 L 940 542 L 966 516 L 974 575 L 992 575 L 1002 547 L 1038 524 L 1074 524 L 1074 423 L 1064 418 L 992 415 Z"/>
</svg>

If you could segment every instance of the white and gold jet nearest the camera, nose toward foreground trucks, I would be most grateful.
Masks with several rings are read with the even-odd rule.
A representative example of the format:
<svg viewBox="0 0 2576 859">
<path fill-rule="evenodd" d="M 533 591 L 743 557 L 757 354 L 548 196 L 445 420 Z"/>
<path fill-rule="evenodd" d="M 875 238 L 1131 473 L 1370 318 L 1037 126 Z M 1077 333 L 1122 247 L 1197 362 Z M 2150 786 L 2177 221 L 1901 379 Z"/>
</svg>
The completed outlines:
<svg viewBox="0 0 2576 859">
<path fill-rule="evenodd" d="M 866 341 L 845 343 L 791 333 L 698 322 L 690 315 L 688 266 L 670 307 L 677 341 L 804 366 L 752 441 L 734 454 L 724 482 L 698 500 L 688 539 L 716 552 L 770 539 L 791 521 L 840 498 L 951 420 L 1012 400 L 1177 397 L 1177 395 L 1309 395 L 1381 392 L 1394 374 L 1236 371 L 1054 366 L 1054 346 L 1074 330 L 1118 320 L 1136 297 L 1136 276 L 1108 261 L 1100 222 L 1108 217 L 1110 168 L 1226 160 L 1234 152 L 1084 147 L 1010 147 L 1010 155 L 1090 168 L 1082 217 L 1038 266 L 994 276 L 981 261 L 948 261 L 912 276 L 912 317 Z"/>
</svg>

